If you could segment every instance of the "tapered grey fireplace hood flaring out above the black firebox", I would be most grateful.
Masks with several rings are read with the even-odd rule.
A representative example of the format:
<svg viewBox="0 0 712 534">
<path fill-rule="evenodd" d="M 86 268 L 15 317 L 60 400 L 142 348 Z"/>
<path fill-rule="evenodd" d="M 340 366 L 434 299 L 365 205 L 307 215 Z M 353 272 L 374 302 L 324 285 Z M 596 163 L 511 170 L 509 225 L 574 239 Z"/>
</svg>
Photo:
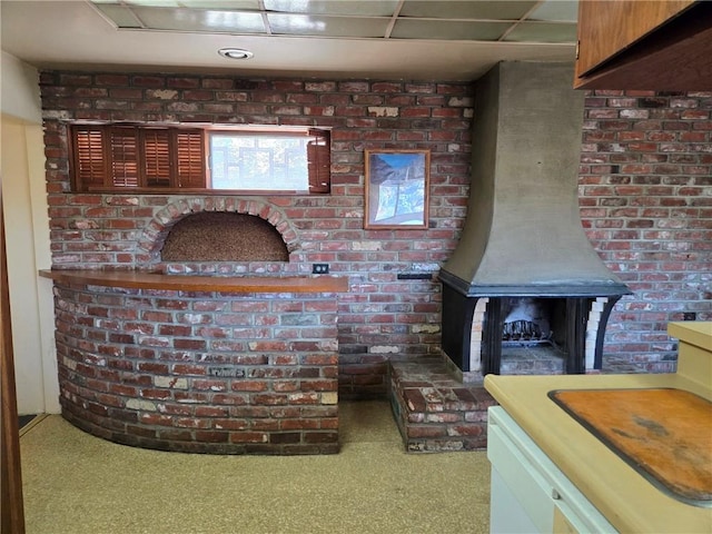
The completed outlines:
<svg viewBox="0 0 712 534">
<path fill-rule="evenodd" d="M 473 178 L 441 281 L 467 297 L 630 294 L 581 225 L 584 93 L 571 63 L 501 62 L 477 81 Z"/>
</svg>

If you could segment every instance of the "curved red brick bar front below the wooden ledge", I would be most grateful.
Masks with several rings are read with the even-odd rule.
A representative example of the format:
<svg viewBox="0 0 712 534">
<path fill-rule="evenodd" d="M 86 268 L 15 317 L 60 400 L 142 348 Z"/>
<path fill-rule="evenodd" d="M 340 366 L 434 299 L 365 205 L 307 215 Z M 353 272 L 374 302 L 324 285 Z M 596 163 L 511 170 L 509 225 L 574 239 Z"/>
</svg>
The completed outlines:
<svg viewBox="0 0 712 534">
<path fill-rule="evenodd" d="M 127 445 L 338 452 L 334 295 L 57 286 L 62 414 Z"/>
</svg>

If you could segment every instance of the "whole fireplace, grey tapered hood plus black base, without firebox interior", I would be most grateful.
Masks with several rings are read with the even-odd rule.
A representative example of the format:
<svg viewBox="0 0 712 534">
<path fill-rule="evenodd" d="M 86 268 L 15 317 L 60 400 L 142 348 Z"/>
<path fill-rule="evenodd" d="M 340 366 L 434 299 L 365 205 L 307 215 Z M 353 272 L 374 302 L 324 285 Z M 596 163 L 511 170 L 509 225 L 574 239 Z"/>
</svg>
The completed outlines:
<svg viewBox="0 0 712 534">
<path fill-rule="evenodd" d="M 548 307 L 566 373 L 601 369 L 607 319 L 631 293 L 581 225 L 573 79 L 572 63 L 501 62 L 475 85 L 467 219 L 438 275 L 443 353 L 464 379 L 501 372 L 511 306 L 525 301 Z"/>
</svg>

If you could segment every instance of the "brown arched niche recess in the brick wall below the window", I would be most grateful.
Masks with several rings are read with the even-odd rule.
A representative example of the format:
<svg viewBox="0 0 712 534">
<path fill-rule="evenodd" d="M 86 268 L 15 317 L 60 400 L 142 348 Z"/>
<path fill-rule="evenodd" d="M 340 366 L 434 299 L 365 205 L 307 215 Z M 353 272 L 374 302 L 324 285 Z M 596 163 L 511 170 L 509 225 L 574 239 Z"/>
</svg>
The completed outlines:
<svg viewBox="0 0 712 534">
<path fill-rule="evenodd" d="M 289 261 L 277 229 L 261 217 L 199 212 L 175 224 L 161 249 L 164 261 Z"/>
</svg>

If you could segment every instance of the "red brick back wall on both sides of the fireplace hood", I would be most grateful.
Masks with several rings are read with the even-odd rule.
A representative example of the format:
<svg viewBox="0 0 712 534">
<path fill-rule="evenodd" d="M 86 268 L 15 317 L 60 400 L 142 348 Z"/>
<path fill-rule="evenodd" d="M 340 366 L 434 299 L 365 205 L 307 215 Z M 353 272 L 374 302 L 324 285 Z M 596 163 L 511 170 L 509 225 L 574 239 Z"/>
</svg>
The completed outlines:
<svg viewBox="0 0 712 534">
<path fill-rule="evenodd" d="M 40 83 L 56 268 L 141 264 L 140 244 L 157 214 L 192 201 L 66 194 L 66 121 L 328 126 L 332 195 L 243 197 L 269 205 L 298 234 L 289 265 L 268 270 L 310 273 L 313 263 L 328 263 L 333 274 L 349 278 L 338 309 L 343 397 L 383 396 L 389 358 L 439 354 L 439 285 L 397 275 L 437 271 L 456 245 L 473 142 L 469 83 L 77 72 L 43 72 Z M 605 353 L 651 370 L 674 365 L 669 320 L 684 312 L 712 318 L 711 101 L 710 93 L 640 92 L 599 92 L 587 100 L 584 225 L 606 264 L 635 291 L 616 306 Z M 367 148 L 432 150 L 427 230 L 363 229 Z M 234 270 L 259 269 L 265 266 Z"/>
</svg>

